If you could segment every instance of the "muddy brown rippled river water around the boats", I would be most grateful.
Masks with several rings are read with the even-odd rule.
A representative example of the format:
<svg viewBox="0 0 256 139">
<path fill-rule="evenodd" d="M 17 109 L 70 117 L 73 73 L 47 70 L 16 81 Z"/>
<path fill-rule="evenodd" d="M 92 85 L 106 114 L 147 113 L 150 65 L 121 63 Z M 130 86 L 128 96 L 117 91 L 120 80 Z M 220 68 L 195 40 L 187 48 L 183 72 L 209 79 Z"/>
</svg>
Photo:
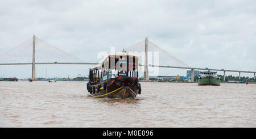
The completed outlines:
<svg viewBox="0 0 256 139">
<path fill-rule="evenodd" d="M 0 82 L 0 127 L 256 127 L 256 84 L 146 83 L 135 99 L 86 82 Z"/>
</svg>

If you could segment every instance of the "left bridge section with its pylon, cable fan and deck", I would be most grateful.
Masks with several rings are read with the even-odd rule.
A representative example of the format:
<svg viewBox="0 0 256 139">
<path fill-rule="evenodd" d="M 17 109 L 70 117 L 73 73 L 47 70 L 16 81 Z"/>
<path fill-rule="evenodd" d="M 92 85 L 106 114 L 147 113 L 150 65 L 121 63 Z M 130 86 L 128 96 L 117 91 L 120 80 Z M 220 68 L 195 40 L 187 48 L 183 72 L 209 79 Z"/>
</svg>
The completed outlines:
<svg viewBox="0 0 256 139">
<path fill-rule="evenodd" d="M 35 37 L 35 35 L 0 56 L 0 65 L 32 65 L 33 80 L 36 79 L 36 64 L 97 65 L 97 63 L 80 60 L 72 54 L 40 40 L 38 37 Z"/>
</svg>

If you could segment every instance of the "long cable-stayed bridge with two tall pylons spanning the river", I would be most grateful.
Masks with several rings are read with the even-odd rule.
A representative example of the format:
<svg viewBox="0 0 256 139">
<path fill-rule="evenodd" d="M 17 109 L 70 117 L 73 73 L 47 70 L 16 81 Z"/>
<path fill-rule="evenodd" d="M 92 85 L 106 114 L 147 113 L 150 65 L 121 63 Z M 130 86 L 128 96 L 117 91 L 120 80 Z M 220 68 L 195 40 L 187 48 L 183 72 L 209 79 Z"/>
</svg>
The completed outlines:
<svg viewBox="0 0 256 139">
<path fill-rule="evenodd" d="M 170 53 L 166 52 L 162 48 L 158 47 L 146 37 L 145 40 L 140 41 L 137 44 L 131 45 L 126 48 L 127 52 L 136 50 L 137 52 L 144 52 L 144 60 L 140 66 L 144 67 L 144 80 L 148 81 L 148 67 L 158 67 L 158 68 L 176 68 L 176 69 L 190 69 L 191 70 L 191 81 L 193 81 L 193 71 L 194 70 L 212 70 L 212 71 L 224 71 L 224 81 L 226 71 L 238 72 L 239 77 L 241 73 L 255 73 L 256 71 L 241 71 L 241 70 L 227 70 L 227 69 L 208 69 L 208 68 L 191 68 L 183 61 L 172 56 Z M 157 64 L 148 64 L 148 54 L 150 52 L 161 52 L 159 54 L 159 59 L 162 63 Z M 165 58 L 163 58 L 165 56 Z M 179 66 L 167 66 L 164 65 L 172 60 L 173 65 Z M 143 63 L 144 62 L 144 63 Z M 176 63 L 176 64 L 175 64 Z M 96 62 L 85 62 L 79 58 L 64 52 L 63 50 L 54 47 L 51 44 L 46 43 L 43 40 L 40 40 L 35 35 L 24 41 L 22 44 L 17 47 L 7 51 L 0 55 L 0 65 L 32 65 L 32 79 L 35 80 L 35 65 L 38 64 L 65 64 L 65 65 L 97 65 Z"/>
</svg>

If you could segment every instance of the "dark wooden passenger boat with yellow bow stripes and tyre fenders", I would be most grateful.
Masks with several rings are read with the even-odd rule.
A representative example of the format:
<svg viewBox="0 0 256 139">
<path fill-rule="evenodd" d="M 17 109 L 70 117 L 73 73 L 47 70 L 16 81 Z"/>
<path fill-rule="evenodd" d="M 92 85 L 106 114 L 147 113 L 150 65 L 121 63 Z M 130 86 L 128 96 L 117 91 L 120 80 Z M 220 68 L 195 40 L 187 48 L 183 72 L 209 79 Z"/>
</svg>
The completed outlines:
<svg viewBox="0 0 256 139">
<path fill-rule="evenodd" d="M 87 90 L 93 97 L 135 98 L 141 94 L 138 57 L 115 54 L 89 70 Z"/>
</svg>

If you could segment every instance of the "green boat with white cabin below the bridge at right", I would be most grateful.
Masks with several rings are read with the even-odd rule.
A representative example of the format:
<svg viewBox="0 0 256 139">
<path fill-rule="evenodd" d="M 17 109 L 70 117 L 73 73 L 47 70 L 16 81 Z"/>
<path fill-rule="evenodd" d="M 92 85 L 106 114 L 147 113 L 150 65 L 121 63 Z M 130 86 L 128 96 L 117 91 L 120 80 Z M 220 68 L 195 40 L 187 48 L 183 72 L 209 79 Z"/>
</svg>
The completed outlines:
<svg viewBox="0 0 256 139">
<path fill-rule="evenodd" d="M 205 86 L 205 85 L 220 86 L 221 78 L 216 75 L 217 72 L 201 71 L 200 74 L 201 76 L 197 78 L 197 82 L 199 86 Z"/>
</svg>

